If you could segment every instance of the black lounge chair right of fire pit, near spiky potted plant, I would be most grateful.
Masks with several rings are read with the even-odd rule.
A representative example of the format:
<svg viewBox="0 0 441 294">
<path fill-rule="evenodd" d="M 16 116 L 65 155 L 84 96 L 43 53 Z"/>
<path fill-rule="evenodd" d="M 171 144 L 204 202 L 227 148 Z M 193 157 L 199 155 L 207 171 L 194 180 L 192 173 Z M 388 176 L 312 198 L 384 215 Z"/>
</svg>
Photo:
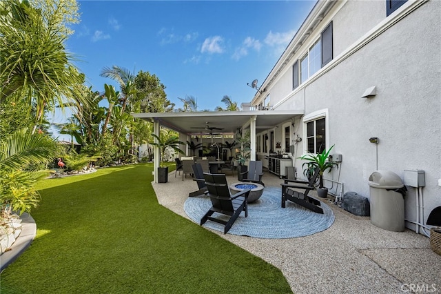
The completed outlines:
<svg viewBox="0 0 441 294">
<path fill-rule="evenodd" d="M 323 213 L 323 209 L 320 207 L 320 201 L 308 196 L 309 191 L 314 190 L 314 182 L 316 182 L 319 172 L 320 170 L 317 168 L 309 182 L 295 179 L 285 179 L 285 183 L 280 184 L 282 185 L 282 208 L 285 208 L 285 202 L 289 200 L 316 213 Z M 305 192 L 300 193 L 293 188 L 305 189 Z"/>
</svg>

